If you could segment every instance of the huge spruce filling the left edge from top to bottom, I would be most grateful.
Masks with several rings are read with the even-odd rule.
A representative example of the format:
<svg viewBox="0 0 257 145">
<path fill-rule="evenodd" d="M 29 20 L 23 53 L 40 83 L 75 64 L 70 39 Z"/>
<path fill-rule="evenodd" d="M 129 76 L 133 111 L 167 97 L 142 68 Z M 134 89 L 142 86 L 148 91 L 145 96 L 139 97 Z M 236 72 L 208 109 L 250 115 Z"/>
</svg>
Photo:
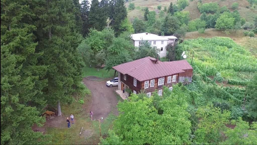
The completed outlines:
<svg viewBox="0 0 257 145">
<path fill-rule="evenodd" d="M 1 144 L 47 144 L 49 136 L 34 132 L 45 107 L 47 66 L 37 65 L 36 30 L 31 7 L 36 1 L 1 1 Z M 40 140 L 40 142 L 39 142 Z"/>
</svg>

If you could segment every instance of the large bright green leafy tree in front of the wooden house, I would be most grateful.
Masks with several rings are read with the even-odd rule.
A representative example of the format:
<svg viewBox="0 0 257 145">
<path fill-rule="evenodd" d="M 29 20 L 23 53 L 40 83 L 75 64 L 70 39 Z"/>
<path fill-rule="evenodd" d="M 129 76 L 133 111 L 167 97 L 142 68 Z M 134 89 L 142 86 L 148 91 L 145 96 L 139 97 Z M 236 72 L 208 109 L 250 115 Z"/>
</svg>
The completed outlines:
<svg viewBox="0 0 257 145">
<path fill-rule="evenodd" d="M 122 113 L 102 144 L 188 144 L 191 123 L 181 88 L 173 86 L 172 92 L 163 88 L 161 98 L 156 92 L 152 96 L 140 99 L 133 94 L 129 101 L 119 102 L 117 107 Z"/>
</svg>

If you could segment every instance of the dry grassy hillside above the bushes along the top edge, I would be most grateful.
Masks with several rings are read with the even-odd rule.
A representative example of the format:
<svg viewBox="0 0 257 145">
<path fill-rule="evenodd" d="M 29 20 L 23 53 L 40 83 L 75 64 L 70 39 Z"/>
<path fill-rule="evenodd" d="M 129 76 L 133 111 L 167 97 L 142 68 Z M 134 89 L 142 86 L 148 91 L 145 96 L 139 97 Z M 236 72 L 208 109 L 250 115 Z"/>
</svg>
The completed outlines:
<svg viewBox="0 0 257 145">
<path fill-rule="evenodd" d="M 132 2 L 127 2 L 125 3 L 125 6 L 128 7 L 129 3 L 135 3 L 135 6 L 140 6 L 142 7 L 148 7 L 150 11 L 155 10 L 158 13 L 157 10 L 157 6 L 161 5 L 162 6 L 162 10 L 164 8 L 164 6 L 167 6 L 167 8 L 170 5 L 170 2 L 172 2 L 173 4 L 176 4 L 176 0 L 135 0 Z M 194 0 L 194 1 L 189 1 L 189 5 L 183 10 L 183 11 L 189 11 L 190 12 L 190 20 L 199 18 L 201 13 L 199 12 L 199 10 L 197 9 L 197 2 L 198 0 Z M 221 1 L 221 0 L 202 0 L 202 3 L 209 3 L 209 2 L 217 2 L 219 4 L 220 7 L 222 6 L 226 6 L 227 8 L 230 9 L 230 11 L 233 11 L 231 8 L 231 5 L 234 2 L 239 3 L 238 5 L 238 12 L 240 13 L 241 17 L 245 18 L 247 22 L 251 22 L 253 23 L 254 20 L 254 15 L 257 14 L 257 9 L 253 9 L 253 8 L 246 8 L 247 5 L 250 5 L 249 2 L 247 2 L 247 0 L 226 0 L 226 1 Z M 133 20 L 135 16 L 143 19 L 143 11 L 140 10 L 133 10 L 133 11 L 128 11 L 128 19 L 129 20 Z"/>
</svg>

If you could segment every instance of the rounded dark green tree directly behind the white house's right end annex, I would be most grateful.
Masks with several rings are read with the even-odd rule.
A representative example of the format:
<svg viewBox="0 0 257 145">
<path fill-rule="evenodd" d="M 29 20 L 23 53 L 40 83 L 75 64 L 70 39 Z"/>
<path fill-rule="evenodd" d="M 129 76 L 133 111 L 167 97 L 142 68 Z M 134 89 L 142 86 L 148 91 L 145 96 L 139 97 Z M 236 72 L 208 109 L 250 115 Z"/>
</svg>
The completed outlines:
<svg viewBox="0 0 257 145">
<path fill-rule="evenodd" d="M 173 34 L 177 29 L 179 29 L 179 20 L 177 17 L 171 16 L 170 14 L 166 15 L 164 22 L 162 24 L 162 31 L 164 34 L 171 35 Z"/>
</svg>

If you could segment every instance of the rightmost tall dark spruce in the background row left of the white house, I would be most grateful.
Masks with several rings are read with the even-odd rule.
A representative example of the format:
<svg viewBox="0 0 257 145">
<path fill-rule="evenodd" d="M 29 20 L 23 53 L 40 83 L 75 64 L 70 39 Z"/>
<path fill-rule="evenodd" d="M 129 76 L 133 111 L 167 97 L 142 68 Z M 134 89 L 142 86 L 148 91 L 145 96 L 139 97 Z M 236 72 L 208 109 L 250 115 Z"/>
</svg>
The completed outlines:
<svg viewBox="0 0 257 145">
<path fill-rule="evenodd" d="M 123 0 L 117 0 L 115 5 L 114 5 L 114 24 L 113 24 L 113 29 L 116 33 L 116 35 L 120 35 L 122 30 L 120 29 L 120 25 L 122 21 L 127 18 L 127 10 L 126 7 L 124 6 L 124 1 Z"/>
</svg>

